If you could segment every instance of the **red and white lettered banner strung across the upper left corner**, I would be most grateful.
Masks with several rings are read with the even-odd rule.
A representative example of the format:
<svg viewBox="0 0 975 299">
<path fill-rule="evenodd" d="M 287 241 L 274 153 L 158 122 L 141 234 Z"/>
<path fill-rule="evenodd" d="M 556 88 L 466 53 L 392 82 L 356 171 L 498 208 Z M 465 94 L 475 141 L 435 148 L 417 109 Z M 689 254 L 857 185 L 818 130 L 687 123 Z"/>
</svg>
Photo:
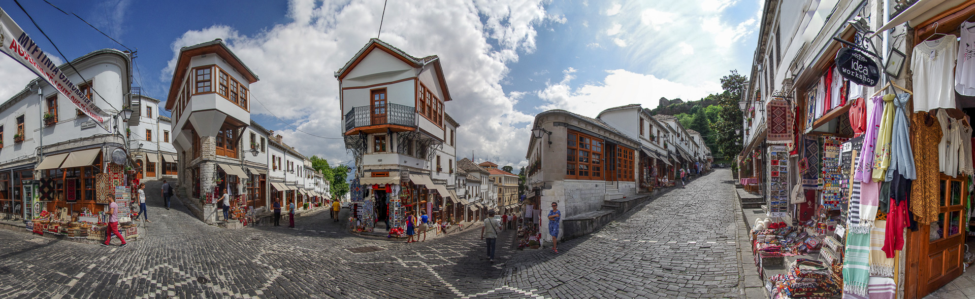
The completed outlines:
<svg viewBox="0 0 975 299">
<path fill-rule="evenodd" d="M 112 131 L 111 124 L 108 124 L 112 119 L 111 115 L 98 108 L 94 99 L 86 96 L 78 86 L 71 83 L 67 75 L 58 68 L 58 64 L 41 51 L 40 47 L 3 9 L 0 9 L 0 45 L 2 45 L 0 52 L 14 58 L 55 87 L 61 96 L 70 99 L 78 109 L 91 117 L 98 127 L 108 132 Z"/>
</svg>

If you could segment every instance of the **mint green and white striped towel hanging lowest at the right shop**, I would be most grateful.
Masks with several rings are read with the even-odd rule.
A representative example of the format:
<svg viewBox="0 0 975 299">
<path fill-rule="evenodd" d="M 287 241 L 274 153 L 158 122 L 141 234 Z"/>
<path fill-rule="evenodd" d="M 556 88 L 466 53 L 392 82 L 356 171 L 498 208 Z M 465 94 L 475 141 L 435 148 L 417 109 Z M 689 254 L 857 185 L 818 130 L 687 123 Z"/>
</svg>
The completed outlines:
<svg viewBox="0 0 975 299">
<path fill-rule="evenodd" d="M 843 293 L 867 296 L 870 282 L 870 234 L 846 236 L 846 254 L 843 258 Z"/>
</svg>

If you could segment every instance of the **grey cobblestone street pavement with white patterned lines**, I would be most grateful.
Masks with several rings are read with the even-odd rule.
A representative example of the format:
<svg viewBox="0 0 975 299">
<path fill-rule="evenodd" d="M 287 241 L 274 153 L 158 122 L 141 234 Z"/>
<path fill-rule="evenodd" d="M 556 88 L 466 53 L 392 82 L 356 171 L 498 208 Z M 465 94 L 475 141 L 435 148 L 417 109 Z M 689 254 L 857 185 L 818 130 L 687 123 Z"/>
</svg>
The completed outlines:
<svg viewBox="0 0 975 299">
<path fill-rule="evenodd" d="M 146 239 L 125 248 L 0 231 L 0 298 L 736 297 L 729 181 L 727 170 L 699 178 L 558 255 L 513 250 L 504 232 L 495 264 L 479 227 L 392 243 L 352 236 L 318 212 L 296 229 L 224 230 L 178 201 L 163 208 L 149 190 Z M 349 250 L 363 246 L 381 250 Z"/>
</svg>

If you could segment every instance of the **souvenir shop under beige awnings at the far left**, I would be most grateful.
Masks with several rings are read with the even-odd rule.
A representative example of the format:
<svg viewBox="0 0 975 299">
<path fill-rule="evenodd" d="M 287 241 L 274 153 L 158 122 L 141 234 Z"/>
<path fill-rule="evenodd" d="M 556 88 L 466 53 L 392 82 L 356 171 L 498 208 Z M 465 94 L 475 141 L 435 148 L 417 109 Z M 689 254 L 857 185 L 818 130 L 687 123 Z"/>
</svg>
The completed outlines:
<svg viewBox="0 0 975 299">
<path fill-rule="evenodd" d="M 121 150 L 121 149 L 116 149 Z M 126 240 L 137 239 L 133 220 L 135 170 L 103 162 L 102 148 L 84 149 L 44 157 L 34 171 L 14 174 L 24 223 L 38 235 L 104 241 L 111 199 L 119 206 L 119 232 Z M 33 179 L 37 175 L 37 179 Z M 0 175 L 0 178 L 10 176 Z M 7 182 L 4 182 L 6 184 Z M 137 208 L 137 207 L 136 207 Z"/>
</svg>

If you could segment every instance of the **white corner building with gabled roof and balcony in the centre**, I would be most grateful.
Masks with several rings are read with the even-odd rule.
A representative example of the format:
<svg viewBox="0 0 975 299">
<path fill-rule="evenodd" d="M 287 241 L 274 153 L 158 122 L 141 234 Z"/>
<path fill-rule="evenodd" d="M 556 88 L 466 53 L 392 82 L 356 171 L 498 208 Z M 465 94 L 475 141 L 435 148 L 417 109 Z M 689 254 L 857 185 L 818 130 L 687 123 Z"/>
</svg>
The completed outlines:
<svg viewBox="0 0 975 299">
<path fill-rule="evenodd" d="M 395 194 L 385 187 L 373 192 L 378 219 L 392 212 L 396 223 L 407 211 L 420 210 L 431 213 L 435 221 L 455 218 L 466 204 L 448 191 L 456 188 L 450 168 L 456 162 L 453 140 L 458 124 L 444 110 L 452 98 L 440 57 L 409 56 L 370 39 L 334 75 L 345 146 L 358 169 L 355 176 L 364 185 L 399 185 L 406 191 L 399 197 L 402 209 L 390 208 Z"/>
</svg>

